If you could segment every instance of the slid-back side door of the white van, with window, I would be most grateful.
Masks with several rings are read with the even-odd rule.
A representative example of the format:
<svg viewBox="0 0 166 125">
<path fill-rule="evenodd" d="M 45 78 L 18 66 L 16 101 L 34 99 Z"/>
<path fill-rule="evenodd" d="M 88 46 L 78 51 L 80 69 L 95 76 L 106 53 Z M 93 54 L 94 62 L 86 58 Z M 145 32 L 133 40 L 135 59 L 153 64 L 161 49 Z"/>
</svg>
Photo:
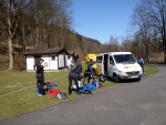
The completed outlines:
<svg viewBox="0 0 166 125">
<path fill-rule="evenodd" d="M 102 74 L 104 74 L 103 59 L 104 59 L 104 55 L 97 55 L 97 58 L 96 58 L 96 64 Z"/>
</svg>

